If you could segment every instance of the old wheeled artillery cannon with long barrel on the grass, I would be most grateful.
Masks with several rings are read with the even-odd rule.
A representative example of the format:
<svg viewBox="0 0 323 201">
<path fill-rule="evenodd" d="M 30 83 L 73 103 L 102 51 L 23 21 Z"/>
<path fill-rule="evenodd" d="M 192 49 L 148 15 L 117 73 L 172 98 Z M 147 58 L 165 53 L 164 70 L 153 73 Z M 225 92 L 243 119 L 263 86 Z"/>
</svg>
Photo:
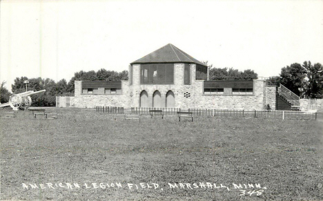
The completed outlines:
<svg viewBox="0 0 323 201">
<path fill-rule="evenodd" d="M 5 104 L 0 104 L 0 108 L 6 107 L 6 106 L 12 107 L 13 110 L 18 110 L 18 108 L 21 108 L 21 109 L 29 108 L 29 106 L 32 103 L 32 99 L 31 99 L 30 95 L 35 95 L 37 93 L 42 93 L 45 91 L 46 91 L 45 89 L 35 91 L 35 92 L 33 90 L 28 90 L 23 93 L 11 95 L 9 98 L 9 102 L 5 103 Z"/>
</svg>

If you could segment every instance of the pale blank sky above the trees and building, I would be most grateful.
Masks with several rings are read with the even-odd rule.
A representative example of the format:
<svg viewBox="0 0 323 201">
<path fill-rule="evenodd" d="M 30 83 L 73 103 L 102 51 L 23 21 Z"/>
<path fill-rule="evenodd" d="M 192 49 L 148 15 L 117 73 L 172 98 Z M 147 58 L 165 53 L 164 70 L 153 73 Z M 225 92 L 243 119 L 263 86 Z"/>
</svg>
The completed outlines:
<svg viewBox="0 0 323 201">
<path fill-rule="evenodd" d="M 323 64 L 323 1 L 0 1 L 0 82 L 128 70 L 173 44 L 260 77 Z"/>
</svg>

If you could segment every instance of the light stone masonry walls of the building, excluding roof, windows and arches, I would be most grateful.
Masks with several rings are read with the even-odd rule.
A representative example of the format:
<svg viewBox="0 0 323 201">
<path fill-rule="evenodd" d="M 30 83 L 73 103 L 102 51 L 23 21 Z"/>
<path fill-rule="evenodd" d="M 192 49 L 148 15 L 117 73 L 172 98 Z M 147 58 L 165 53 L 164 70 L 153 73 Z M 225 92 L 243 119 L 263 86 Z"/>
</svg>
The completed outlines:
<svg viewBox="0 0 323 201">
<path fill-rule="evenodd" d="M 72 104 L 79 108 L 95 106 L 139 107 L 140 94 L 148 93 L 148 105 L 153 107 L 155 90 L 161 93 L 161 103 L 166 106 L 166 94 L 172 90 L 175 107 L 188 108 L 228 108 L 245 111 L 262 110 L 266 104 L 275 108 L 275 87 L 266 87 L 264 80 L 254 80 L 253 95 L 204 95 L 204 81 L 195 80 L 196 65 L 190 64 L 190 84 L 184 84 L 184 64 L 174 64 L 174 84 L 140 84 L 140 64 L 133 65 L 133 82 L 122 81 L 121 94 L 81 94 L 81 81 L 75 82 L 75 99 Z"/>
</svg>

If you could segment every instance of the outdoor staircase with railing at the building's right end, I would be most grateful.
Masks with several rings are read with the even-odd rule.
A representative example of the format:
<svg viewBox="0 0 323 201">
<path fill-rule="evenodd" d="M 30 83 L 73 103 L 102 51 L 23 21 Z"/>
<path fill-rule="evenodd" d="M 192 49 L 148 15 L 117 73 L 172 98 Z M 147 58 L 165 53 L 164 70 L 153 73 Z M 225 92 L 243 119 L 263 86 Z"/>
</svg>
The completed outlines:
<svg viewBox="0 0 323 201">
<path fill-rule="evenodd" d="M 280 84 L 276 91 L 277 111 L 299 111 L 300 97 L 291 90 Z"/>
</svg>

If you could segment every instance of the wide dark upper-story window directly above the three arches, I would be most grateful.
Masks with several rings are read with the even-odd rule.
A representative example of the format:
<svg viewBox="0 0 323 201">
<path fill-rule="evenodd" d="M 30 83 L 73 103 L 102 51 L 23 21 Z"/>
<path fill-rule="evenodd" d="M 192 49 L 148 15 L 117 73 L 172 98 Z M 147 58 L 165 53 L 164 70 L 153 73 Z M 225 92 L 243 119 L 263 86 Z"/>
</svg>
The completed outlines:
<svg viewBox="0 0 323 201">
<path fill-rule="evenodd" d="M 140 84 L 174 84 L 174 64 L 141 64 Z"/>
</svg>

